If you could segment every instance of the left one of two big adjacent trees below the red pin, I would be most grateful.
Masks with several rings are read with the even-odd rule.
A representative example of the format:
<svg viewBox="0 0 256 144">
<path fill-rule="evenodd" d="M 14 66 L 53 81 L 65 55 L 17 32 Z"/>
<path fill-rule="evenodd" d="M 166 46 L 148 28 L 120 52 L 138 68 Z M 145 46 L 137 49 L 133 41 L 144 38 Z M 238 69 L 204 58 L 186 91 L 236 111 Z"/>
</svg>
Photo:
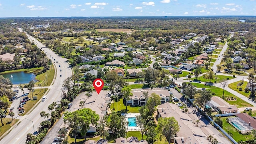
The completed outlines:
<svg viewBox="0 0 256 144">
<path fill-rule="evenodd" d="M 78 110 L 74 112 L 65 112 L 63 120 L 65 124 L 68 124 L 69 127 L 73 129 L 76 144 L 76 133 L 81 127 Z"/>
</svg>

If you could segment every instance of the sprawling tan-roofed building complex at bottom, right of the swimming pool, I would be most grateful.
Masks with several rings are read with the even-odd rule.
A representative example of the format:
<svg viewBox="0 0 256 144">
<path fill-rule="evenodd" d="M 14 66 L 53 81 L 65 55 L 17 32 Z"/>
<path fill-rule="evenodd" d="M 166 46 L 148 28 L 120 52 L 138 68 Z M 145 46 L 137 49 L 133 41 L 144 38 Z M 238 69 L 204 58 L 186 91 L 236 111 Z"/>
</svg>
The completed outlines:
<svg viewBox="0 0 256 144">
<path fill-rule="evenodd" d="M 177 120 L 180 127 L 179 132 L 174 134 L 174 138 L 170 143 L 174 144 L 211 144 L 208 140 L 208 135 L 211 134 L 218 140 L 219 143 L 223 143 L 218 136 L 216 136 L 206 124 L 202 122 L 196 114 L 188 112 L 188 114 L 182 112 L 176 104 L 169 102 L 161 104 L 157 108 L 156 118 L 168 118 L 174 117 Z M 195 122 L 199 120 L 199 123 Z"/>
</svg>

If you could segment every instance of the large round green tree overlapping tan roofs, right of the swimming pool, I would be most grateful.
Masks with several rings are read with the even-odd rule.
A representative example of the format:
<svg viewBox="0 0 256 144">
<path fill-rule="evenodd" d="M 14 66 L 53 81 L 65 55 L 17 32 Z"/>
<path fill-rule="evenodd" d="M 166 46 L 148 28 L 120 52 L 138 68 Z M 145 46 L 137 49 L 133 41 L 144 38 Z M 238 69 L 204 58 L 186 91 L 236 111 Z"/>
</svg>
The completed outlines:
<svg viewBox="0 0 256 144">
<path fill-rule="evenodd" d="M 158 132 L 165 136 L 170 144 L 171 138 L 180 130 L 179 124 L 174 117 L 159 118 L 158 120 Z"/>
</svg>

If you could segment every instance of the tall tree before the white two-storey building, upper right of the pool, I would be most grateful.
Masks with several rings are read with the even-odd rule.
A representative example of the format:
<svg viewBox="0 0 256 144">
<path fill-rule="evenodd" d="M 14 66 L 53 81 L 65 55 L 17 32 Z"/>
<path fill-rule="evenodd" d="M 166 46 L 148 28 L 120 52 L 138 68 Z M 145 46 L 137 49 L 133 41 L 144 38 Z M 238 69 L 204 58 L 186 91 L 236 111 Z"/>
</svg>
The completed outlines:
<svg viewBox="0 0 256 144">
<path fill-rule="evenodd" d="M 146 103 L 146 107 L 148 108 L 150 116 L 152 116 L 152 114 L 154 113 L 154 106 L 161 104 L 160 100 L 161 98 L 158 94 L 150 94 L 150 97 L 148 98 L 148 101 Z"/>
</svg>

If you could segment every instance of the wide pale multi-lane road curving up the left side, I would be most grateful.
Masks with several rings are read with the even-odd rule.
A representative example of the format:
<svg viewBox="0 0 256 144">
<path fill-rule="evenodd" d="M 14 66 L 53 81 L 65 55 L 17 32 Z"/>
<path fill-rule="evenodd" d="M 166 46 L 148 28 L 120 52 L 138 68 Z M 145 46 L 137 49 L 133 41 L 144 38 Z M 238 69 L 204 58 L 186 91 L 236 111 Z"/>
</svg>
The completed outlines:
<svg viewBox="0 0 256 144">
<path fill-rule="evenodd" d="M 20 30 L 20 29 L 19 29 Z M 58 63 L 53 63 L 56 65 L 56 79 L 53 80 L 52 85 L 48 89 L 48 99 L 44 102 L 40 101 L 38 106 L 34 110 L 30 112 L 30 114 L 23 116 L 20 119 L 20 124 L 18 124 L 14 129 L 12 129 L 1 141 L 0 144 L 24 144 L 26 142 L 26 135 L 28 133 L 33 133 L 33 124 L 35 131 L 40 126 L 40 122 L 44 121 L 44 118 L 40 117 L 40 112 L 45 111 L 50 113 L 48 110 L 48 105 L 52 102 L 59 102 L 61 100 L 61 88 L 63 81 L 72 75 L 72 70 L 69 68 L 69 64 L 66 62 L 66 58 L 62 58 L 57 54 L 54 54 L 52 50 L 45 47 L 42 43 L 38 42 L 37 40 L 33 39 L 31 36 L 27 34 L 30 40 L 34 40 L 35 44 L 38 45 L 39 48 L 42 48 L 45 52 L 47 52 L 47 57 L 53 57 L 58 61 Z M 59 67 L 60 65 L 60 67 Z M 60 69 L 62 72 L 60 72 Z M 60 74 L 62 77 L 60 77 Z"/>
</svg>

